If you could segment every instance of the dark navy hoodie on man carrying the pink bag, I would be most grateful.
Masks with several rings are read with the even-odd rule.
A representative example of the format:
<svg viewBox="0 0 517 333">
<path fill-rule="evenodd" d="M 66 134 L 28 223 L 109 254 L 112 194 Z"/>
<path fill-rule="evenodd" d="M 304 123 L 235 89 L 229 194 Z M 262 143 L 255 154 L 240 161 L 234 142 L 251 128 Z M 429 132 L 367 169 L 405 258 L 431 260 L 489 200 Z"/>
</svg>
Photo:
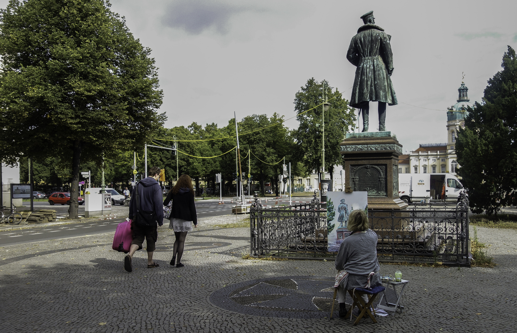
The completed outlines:
<svg viewBox="0 0 517 333">
<path fill-rule="evenodd" d="M 140 195 L 140 210 L 155 211 L 158 225 L 163 225 L 163 195 L 158 181 L 153 177 L 147 177 L 138 182 L 138 194 Z M 136 216 L 136 203 L 133 196 L 129 202 L 129 219 Z"/>
</svg>

